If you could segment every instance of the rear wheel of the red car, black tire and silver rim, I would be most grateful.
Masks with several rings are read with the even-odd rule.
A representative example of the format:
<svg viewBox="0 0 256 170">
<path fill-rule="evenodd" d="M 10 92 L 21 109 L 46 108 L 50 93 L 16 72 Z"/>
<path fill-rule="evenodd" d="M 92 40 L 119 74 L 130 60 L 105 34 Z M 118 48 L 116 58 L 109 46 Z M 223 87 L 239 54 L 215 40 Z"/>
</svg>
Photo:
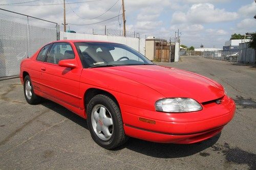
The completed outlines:
<svg viewBox="0 0 256 170">
<path fill-rule="evenodd" d="M 34 105 L 41 101 L 41 98 L 34 93 L 33 85 L 28 75 L 24 78 L 23 90 L 28 104 Z"/>
</svg>

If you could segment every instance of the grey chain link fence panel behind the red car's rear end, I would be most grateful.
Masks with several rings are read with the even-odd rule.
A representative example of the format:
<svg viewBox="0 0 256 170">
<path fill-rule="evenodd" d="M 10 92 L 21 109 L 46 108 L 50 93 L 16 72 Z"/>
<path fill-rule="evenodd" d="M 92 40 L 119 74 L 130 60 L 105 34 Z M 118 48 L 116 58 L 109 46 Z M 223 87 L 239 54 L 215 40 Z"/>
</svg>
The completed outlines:
<svg viewBox="0 0 256 170">
<path fill-rule="evenodd" d="M 17 76 L 20 62 L 40 46 L 56 40 L 56 29 L 0 18 L 0 78 Z"/>
</svg>

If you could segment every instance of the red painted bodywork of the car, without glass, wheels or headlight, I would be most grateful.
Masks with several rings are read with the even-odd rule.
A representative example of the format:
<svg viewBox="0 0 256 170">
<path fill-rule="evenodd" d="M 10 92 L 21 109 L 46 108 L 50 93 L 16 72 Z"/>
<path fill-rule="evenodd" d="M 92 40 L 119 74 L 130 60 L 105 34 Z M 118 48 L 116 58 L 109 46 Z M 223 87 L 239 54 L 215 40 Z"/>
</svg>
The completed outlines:
<svg viewBox="0 0 256 170">
<path fill-rule="evenodd" d="M 82 68 L 74 46 L 74 42 L 81 41 L 58 42 L 71 44 L 75 54 L 72 60 L 74 68 L 36 61 L 39 49 L 20 64 L 20 80 L 23 82 L 23 73 L 28 72 L 37 95 L 83 118 L 86 118 L 84 94 L 90 88 L 114 95 L 120 106 L 125 134 L 144 140 L 167 143 L 202 141 L 221 132 L 234 115 L 236 106 L 233 100 L 224 94 L 219 83 L 206 77 L 157 65 Z M 156 101 L 177 97 L 194 99 L 203 109 L 188 113 L 155 110 Z M 222 99 L 222 103 L 205 103 L 217 99 Z M 155 120 L 156 124 L 141 122 L 139 117 Z"/>
</svg>

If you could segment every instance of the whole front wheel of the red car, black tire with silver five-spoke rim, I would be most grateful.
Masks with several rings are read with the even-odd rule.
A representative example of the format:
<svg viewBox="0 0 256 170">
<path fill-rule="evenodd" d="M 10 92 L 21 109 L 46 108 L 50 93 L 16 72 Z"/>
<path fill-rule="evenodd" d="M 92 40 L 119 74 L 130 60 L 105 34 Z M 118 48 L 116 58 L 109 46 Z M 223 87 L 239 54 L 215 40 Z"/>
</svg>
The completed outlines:
<svg viewBox="0 0 256 170">
<path fill-rule="evenodd" d="M 120 109 L 109 96 L 98 94 L 89 102 L 87 123 L 93 140 L 105 149 L 119 147 L 127 140 Z"/>
</svg>

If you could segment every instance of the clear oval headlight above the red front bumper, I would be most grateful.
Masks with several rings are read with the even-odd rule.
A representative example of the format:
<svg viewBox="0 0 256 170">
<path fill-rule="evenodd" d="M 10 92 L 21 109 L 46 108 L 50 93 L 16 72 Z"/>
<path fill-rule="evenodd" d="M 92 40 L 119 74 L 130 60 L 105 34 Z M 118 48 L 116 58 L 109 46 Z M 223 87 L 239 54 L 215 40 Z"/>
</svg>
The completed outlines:
<svg viewBox="0 0 256 170">
<path fill-rule="evenodd" d="M 201 105 L 194 99 L 170 98 L 161 99 L 156 102 L 156 110 L 161 112 L 193 112 L 202 110 Z"/>
</svg>

